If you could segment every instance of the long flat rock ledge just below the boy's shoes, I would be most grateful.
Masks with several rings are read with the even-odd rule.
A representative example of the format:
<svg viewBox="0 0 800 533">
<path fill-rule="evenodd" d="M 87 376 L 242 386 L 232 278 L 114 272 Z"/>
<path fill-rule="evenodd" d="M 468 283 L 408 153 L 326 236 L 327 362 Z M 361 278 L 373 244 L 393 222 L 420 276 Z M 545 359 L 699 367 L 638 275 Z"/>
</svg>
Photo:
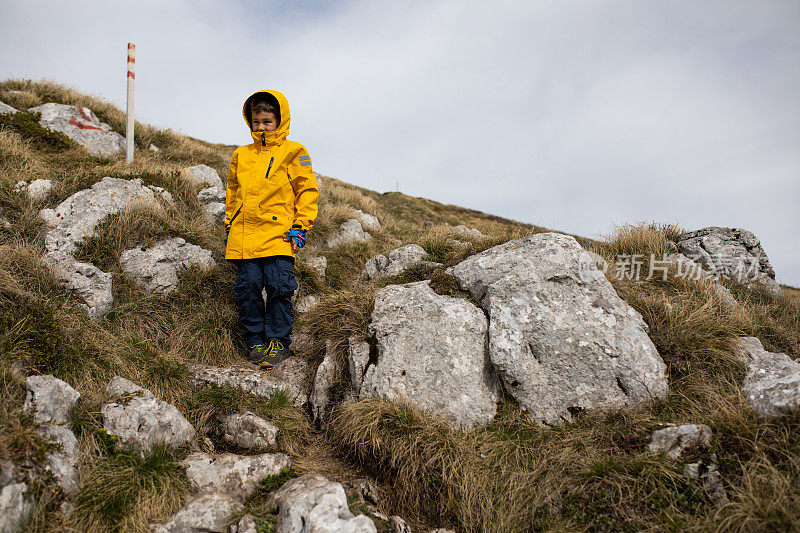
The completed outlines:
<svg viewBox="0 0 800 533">
<path fill-rule="evenodd" d="M 278 363 L 272 374 L 244 367 L 217 368 L 206 365 L 189 365 L 197 383 L 212 384 L 219 387 L 231 385 L 264 398 L 271 398 L 279 391 L 286 392 L 295 405 L 303 406 L 308 395 L 303 390 L 303 361 L 290 357 Z"/>
</svg>

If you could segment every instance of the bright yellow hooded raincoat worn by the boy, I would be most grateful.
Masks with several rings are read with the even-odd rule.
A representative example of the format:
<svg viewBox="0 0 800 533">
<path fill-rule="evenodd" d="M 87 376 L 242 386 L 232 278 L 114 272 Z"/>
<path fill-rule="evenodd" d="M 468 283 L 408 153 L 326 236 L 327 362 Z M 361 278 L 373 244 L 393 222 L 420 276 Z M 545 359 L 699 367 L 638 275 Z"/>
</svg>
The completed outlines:
<svg viewBox="0 0 800 533">
<path fill-rule="evenodd" d="M 242 109 L 248 127 L 247 102 L 258 93 L 278 100 L 281 123 L 275 131 L 254 132 L 251 127 L 253 143 L 233 153 L 225 197 L 225 259 L 294 256 L 283 238 L 295 224 L 310 230 L 317 218 L 319 190 L 311 157 L 302 144 L 286 139 L 289 102 L 278 91 L 253 93 Z"/>
</svg>

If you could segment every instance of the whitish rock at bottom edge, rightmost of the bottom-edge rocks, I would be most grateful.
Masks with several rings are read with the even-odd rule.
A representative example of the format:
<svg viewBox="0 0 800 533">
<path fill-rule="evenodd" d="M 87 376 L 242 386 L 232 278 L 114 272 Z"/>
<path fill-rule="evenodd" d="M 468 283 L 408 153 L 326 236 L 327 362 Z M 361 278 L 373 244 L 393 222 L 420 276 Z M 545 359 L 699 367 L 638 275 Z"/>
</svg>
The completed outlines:
<svg viewBox="0 0 800 533">
<path fill-rule="evenodd" d="M 280 533 L 376 533 L 371 519 L 355 516 L 347 506 L 344 487 L 318 474 L 290 479 L 271 501 L 278 507 L 276 531 Z"/>
</svg>

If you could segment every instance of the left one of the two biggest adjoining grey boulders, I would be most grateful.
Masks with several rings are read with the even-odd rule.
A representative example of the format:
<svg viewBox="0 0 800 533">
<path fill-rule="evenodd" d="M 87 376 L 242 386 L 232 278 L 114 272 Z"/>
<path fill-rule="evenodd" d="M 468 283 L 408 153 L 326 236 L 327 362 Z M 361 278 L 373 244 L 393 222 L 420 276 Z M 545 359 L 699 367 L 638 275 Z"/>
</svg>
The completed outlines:
<svg viewBox="0 0 800 533">
<path fill-rule="evenodd" d="M 361 396 L 404 398 L 454 427 L 487 424 L 497 392 L 486 365 L 486 316 L 429 283 L 390 285 L 375 295 L 368 333 L 377 362 L 364 374 Z"/>
</svg>

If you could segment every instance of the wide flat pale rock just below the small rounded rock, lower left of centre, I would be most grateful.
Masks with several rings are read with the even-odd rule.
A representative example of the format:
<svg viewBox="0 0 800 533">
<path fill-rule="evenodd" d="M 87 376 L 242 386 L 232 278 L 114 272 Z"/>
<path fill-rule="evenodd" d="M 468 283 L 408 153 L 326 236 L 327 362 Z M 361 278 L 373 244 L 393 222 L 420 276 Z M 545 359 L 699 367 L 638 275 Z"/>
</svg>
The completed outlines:
<svg viewBox="0 0 800 533">
<path fill-rule="evenodd" d="M 189 483 L 198 492 L 222 492 L 244 499 L 262 479 L 277 476 L 291 466 L 291 461 L 282 453 L 251 456 L 226 453 L 214 459 L 207 453 L 196 452 L 183 465 Z"/>
</svg>

